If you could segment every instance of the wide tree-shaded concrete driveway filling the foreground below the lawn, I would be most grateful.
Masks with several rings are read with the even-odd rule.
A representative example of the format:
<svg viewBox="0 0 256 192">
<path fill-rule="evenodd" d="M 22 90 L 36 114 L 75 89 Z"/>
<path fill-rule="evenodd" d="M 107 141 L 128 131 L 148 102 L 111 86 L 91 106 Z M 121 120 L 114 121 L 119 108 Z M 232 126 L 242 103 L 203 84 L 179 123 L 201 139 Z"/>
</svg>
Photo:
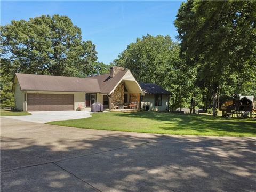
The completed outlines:
<svg viewBox="0 0 256 192">
<path fill-rule="evenodd" d="M 255 191 L 255 141 L 1 118 L 1 191 Z"/>
</svg>

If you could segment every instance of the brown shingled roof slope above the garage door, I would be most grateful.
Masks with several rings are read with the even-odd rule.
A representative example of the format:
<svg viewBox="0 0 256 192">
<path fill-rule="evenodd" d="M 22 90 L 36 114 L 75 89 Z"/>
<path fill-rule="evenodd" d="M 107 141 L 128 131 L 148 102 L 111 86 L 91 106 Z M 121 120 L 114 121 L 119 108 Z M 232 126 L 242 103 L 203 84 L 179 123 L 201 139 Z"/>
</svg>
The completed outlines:
<svg viewBox="0 0 256 192">
<path fill-rule="evenodd" d="M 100 92 L 97 79 L 15 74 L 23 91 Z"/>
</svg>

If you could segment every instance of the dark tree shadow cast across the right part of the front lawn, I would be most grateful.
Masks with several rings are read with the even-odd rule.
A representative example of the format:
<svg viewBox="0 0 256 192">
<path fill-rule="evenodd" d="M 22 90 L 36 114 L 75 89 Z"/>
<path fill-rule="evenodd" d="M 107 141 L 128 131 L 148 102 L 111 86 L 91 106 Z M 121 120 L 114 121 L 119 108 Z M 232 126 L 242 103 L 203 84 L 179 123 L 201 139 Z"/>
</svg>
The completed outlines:
<svg viewBox="0 0 256 192">
<path fill-rule="evenodd" d="M 190 129 L 205 133 L 214 131 L 219 132 L 220 135 L 228 135 L 228 132 L 256 134 L 255 119 L 227 119 L 208 115 L 157 112 L 116 113 L 114 116 L 161 121 L 165 126 L 159 128 L 164 130 Z"/>
</svg>

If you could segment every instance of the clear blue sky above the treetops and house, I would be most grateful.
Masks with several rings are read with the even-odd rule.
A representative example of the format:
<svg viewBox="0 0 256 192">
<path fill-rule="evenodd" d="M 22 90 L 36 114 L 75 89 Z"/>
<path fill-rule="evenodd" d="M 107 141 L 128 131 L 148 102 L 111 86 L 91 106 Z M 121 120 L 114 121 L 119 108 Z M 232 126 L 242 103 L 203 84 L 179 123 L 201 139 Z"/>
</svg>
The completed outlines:
<svg viewBox="0 0 256 192">
<path fill-rule="evenodd" d="M 178 35 L 175 16 L 181 1 L 1 1 L 1 25 L 11 20 L 40 15 L 67 15 L 90 39 L 98 61 L 106 64 L 118 57 L 137 37 Z"/>
</svg>

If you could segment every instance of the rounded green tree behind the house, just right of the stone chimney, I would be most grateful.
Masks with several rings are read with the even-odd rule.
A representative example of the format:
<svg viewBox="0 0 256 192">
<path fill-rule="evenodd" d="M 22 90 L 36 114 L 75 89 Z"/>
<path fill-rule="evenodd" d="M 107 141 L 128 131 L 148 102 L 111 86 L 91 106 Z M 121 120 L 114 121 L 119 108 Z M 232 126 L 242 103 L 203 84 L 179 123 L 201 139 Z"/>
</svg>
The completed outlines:
<svg viewBox="0 0 256 192">
<path fill-rule="evenodd" d="M 188 91 L 193 86 L 193 73 L 179 52 L 179 44 L 170 36 L 147 34 L 129 44 L 114 60 L 114 65 L 129 68 L 137 81 L 156 83 L 171 91 L 171 109 L 176 110 L 187 102 Z"/>
</svg>

